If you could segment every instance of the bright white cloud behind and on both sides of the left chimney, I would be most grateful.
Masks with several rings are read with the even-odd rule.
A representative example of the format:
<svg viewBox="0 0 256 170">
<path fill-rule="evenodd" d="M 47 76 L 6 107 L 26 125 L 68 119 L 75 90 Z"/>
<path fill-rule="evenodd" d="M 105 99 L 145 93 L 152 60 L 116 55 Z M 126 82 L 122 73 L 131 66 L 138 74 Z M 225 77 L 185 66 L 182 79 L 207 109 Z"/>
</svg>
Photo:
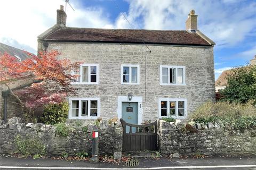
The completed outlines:
<svg viewBox="0 0 256 170">
<path fill-rule="evenodd" d="M 0 41 L 28 52 L 35 52 L 37 36 L 55 24 L 56 10 L 60 5 L 65 5 L 65 1 L 0 1 Z M 69 27 L 114 27 L 102 8 L 81 8 L 82 5 L 78 1 L 71 5 L 75 8 L 75 12 L 67 6 Z"/>
</svg>

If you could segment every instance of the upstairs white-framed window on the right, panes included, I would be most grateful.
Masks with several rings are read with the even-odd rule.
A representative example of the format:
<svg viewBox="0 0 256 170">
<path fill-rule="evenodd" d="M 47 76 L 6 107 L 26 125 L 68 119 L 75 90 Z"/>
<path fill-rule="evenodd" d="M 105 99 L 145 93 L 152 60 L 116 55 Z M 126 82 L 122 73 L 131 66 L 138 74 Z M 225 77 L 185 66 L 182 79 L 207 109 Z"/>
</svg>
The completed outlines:
<svg viewBox="0 0 256 170">
<path fill-rule="evenodd" d="M 185 66 L 161 65 L 160 85 L 186 85 Z"/>
</svg>

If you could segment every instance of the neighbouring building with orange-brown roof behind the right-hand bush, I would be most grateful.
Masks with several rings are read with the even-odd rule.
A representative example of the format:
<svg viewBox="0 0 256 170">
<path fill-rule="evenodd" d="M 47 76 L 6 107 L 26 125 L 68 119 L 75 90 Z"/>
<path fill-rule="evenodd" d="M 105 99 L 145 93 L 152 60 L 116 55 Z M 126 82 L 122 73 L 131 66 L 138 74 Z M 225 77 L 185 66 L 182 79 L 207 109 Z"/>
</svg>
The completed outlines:
<svg viewBox="0 0 256 170">
<path fill-rule="evenodd" d="M 250 65 L 256 64 L 256 55 L 252 60 L 250 60 Z M 236 68 L 234 68 L 236 69 Z M 233 72 L 233 69 L 223 71 L 218 79 L 215 81 L 215 91 L 219 91 L 221 89 L 225 89 L 227 86 L 227 77 Z"/>
</svg>

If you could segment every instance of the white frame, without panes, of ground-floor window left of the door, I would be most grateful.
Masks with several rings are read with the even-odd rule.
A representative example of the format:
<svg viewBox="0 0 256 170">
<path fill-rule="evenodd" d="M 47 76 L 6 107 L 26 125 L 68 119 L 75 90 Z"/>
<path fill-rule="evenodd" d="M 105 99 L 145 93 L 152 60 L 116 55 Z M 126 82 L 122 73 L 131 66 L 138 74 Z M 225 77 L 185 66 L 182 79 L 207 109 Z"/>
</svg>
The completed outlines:
<svg viewBox="0 0 256 170">
<path fill-rule="evenodd" d="M 72 101 L 78 100 L 78 117 L 72 116 Z M 82 116 L 82 101 L 87 100 L 88 101 L 88 116 Z M 97 100 L 97 116 L 91 116 L 91 100 Z M 69 98 L 69 112 L 68 112 L 68 118 L 69 119 L 97 119 L 100 117 L 100 98 L 79 98 L 79 97 L 71 97 Z"/>
</svg>

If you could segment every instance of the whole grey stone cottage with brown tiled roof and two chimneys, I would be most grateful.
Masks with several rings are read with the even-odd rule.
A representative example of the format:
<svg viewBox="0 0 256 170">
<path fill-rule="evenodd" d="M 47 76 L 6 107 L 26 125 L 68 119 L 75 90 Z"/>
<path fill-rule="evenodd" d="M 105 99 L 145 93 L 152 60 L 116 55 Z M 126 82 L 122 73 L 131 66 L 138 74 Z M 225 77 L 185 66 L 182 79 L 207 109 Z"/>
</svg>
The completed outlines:
<svg viewBox="0 0 256 170">
<path fill-rule="evenodd" d="M 69 120 L 186 118 L 214 100 L 214 42 L 197 29 L 194 10 L 179 31 L 72 28 L 66 18 L 61 6 L 57 24 L 38 36 L 38 51 L 82 62 Z"/>
</svg>

